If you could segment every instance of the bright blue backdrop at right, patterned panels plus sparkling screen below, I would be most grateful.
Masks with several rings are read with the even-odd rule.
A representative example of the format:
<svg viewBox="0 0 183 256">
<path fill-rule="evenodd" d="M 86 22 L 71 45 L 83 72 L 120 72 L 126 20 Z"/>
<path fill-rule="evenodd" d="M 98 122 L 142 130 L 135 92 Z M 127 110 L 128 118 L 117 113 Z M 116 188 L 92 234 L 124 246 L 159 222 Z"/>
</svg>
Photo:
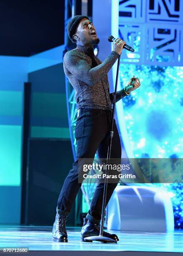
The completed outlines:
<svg viewBox="0 0 183 256">
<path fill-rule="evenodd" d="M 134 157 L 183 157 L 182 11 L 179 0 L 119 1 L 119 36 L 135 49 L 122 52 L 121 88 L 133 75 L 141 82 L 121 103 Z M 167 189 L 175 228 L 183 228 L 183 184 L 153 185 Z"/>
</svg>

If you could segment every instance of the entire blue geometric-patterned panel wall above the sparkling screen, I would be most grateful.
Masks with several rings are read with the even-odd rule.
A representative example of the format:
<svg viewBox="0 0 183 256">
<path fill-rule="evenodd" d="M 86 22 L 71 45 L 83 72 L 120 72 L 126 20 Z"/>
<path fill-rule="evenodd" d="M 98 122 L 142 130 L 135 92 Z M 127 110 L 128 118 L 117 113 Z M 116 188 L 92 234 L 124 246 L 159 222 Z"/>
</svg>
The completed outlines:
<svg viewBox="0 0 183 256">
<path fill-rule="evenodd" d="M 119 0 L 122 63 L 183 66 L 183 0 Z"/>
</svg>

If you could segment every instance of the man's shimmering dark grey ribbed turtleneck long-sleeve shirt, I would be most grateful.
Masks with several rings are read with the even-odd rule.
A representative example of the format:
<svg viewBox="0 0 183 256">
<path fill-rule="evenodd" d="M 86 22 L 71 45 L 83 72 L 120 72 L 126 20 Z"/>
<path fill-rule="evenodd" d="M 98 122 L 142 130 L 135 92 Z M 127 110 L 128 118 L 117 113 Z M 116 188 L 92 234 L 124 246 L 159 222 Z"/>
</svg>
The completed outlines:
<svg viewBox="0 0 183 256">
<path fill-rule="evenodd" d="M 94 55 L 93 47 L 77 45 L 64 56 L 64 73 L 75 90 L 77 108 L 112 110 L 114 92 L 109 93 L 107 73 L 118 59 L 112 51 L 102 62 Z M 116 102 L 127 94 L 117 92 Z"/>
</svg>

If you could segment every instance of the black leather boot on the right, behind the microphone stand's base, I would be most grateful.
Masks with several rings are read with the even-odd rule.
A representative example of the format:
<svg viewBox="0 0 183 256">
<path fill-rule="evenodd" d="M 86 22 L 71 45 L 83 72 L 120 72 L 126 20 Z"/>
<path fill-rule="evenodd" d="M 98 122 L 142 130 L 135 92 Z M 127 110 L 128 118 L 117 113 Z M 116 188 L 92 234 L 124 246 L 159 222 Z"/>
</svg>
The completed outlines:
<svg viewBox="0 0 183 256">
<path fill-rule="evenodd" d="M 92 242 L 91 240 L 84 240 L 84 238 L 86 238 L 87 236 L 99 236 L 99 233 L 100 233 L 99 225 L 97 223 L 89 221 L 85 215 L 82 215 L 82 216 L 83 216 L 84 222 L 83 222 L 83 227 L 81 230 L 80 241 L 81 242 Z M 109 237 L 115 241 L 119 241 L 117 235 L 110 234 L 106 231 L 103 231 L 103 236 Z"/>
</svg>

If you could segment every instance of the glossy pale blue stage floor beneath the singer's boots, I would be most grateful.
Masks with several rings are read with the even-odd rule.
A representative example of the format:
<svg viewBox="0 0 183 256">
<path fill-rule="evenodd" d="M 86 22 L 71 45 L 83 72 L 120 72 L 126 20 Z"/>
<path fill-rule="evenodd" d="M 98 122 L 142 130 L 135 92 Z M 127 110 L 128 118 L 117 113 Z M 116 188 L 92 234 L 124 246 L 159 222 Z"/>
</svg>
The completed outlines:
<svg viewBox="0 0 183 256">
<path fill-rule="evenodd" d="M 26 247 L 30 251 L 75 251 L 74 256 L 78 255 L 76 252 L 87 251 L 85 255 L 90 255 L 89 251 L 107 252 L 124 252 L 120 255 L 137 255 L 135 252 L 166 252 L 158 253 L 156 255 L 169 255 L 168 252 L 183 253 L 183 232 L 175 231 L 174 233 L 147 233 L 147 232 L 123 232 L 112 231 L 119 237 L 116 243 L 84 243 L 80 242 L 81 228 L 67 228 L 68 243 L 56 243 L 52 241 L 52 227 L 43 226 L 18 226 L 18 225 L 0 225 L 0 247 L 14 248 Z M 109 230 L 108 230 L 109 231 Z M 127 254 L 127 252 L 134 252 L 134 254 Z M 107 254 L 106 254 L 107 253 Z M 53 254 L 53 252 L 52 252 Z M 117 253 L 119 254 L 119 253 Z M 65 253 L 64 255 L 69 255 Z M 99 255 L 99 254 L 98 254 Z M 140 253 L 138 255 L 151 255 Z M 155 254 L 153 254 L 155 255 Z M 170 255 L 174 255 L 170 253 Z M 179 254 L 180 255 L 180 254 Z"/>
</svg>

